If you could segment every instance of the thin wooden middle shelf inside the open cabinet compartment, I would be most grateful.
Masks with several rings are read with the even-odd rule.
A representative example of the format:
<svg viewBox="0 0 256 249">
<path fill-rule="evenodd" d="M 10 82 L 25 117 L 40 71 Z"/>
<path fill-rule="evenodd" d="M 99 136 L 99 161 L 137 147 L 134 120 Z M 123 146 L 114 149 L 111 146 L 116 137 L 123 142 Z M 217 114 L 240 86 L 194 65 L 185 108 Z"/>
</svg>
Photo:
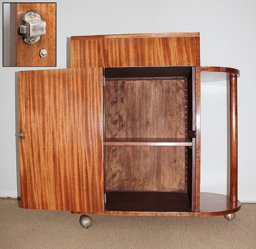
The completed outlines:
<svg viewBox="0 0 256 249">
<path fill-rule="evenodd" d="M 192 146 L 188 138 L 106 138 L 105 146 Z"/>
</svg>

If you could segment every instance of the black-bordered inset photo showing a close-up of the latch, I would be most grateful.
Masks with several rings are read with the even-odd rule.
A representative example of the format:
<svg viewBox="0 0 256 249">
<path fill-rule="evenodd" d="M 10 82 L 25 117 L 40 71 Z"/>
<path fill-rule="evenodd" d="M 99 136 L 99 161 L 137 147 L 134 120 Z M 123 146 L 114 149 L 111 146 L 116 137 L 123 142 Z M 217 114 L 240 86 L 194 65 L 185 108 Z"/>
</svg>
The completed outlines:
<svg viewBox="0 0 256 249">
<path fill-rule="evenodd" d="M 56 67 L 56 2 L 2 3 L 3 67 Z"/>
</svg>

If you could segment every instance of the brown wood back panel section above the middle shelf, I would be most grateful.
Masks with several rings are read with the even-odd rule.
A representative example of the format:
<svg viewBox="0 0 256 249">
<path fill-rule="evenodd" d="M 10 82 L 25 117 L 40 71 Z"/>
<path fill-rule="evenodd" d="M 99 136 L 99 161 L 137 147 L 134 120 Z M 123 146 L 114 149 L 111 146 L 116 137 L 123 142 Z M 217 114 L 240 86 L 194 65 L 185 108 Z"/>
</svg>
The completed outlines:
<svg viewBox="0 0 256 249">
<path fill-rule="evenodd" d="M 185 138 L 185 80 L 105 82 L 106 138 Z"/>
</svg>

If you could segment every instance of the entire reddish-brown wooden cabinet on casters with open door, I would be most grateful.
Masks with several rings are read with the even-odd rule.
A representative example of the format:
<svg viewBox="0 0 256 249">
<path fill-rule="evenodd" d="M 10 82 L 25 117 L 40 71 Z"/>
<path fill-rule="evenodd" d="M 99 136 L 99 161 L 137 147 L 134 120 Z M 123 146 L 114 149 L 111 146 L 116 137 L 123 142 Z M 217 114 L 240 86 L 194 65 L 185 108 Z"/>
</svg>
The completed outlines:
<svg viewBox="0 0 256 249">
<path fill-rule="evenodd" d="M 80 36 L 72 68 L 19 72 L 22 207 L 232 220 L 239 70 L 201 67 L 199 52 L 199 33 Z M 229 196 L 200 192 L 201 80 L 225 79 Z"/>
</svg>

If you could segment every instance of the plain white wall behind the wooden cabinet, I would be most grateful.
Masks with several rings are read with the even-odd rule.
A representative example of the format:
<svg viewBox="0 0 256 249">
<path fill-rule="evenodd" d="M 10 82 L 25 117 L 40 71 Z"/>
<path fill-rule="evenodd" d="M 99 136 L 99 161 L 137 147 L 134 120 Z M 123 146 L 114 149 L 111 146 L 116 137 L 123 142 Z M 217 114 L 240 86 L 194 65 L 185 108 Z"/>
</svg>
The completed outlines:
<svg viewBox="0 0 256 249">
<path fill-rule="evenodd" d="M 239 199 L 256 202 L 255 29 L 255 0 L 62 0 L 57 1 L 57 67 L 67 65 L 67 37 L 71 35 L 201 32 L 201 65 L 235 67 L 241 71 Z M 19 195 L 15 72 L 24 69 L 0 68 L 0 196 Z M 223 194 L 227 172 L 226 108 L 226 83 L 203 83 L 201 190 Z"/>
</svg>

